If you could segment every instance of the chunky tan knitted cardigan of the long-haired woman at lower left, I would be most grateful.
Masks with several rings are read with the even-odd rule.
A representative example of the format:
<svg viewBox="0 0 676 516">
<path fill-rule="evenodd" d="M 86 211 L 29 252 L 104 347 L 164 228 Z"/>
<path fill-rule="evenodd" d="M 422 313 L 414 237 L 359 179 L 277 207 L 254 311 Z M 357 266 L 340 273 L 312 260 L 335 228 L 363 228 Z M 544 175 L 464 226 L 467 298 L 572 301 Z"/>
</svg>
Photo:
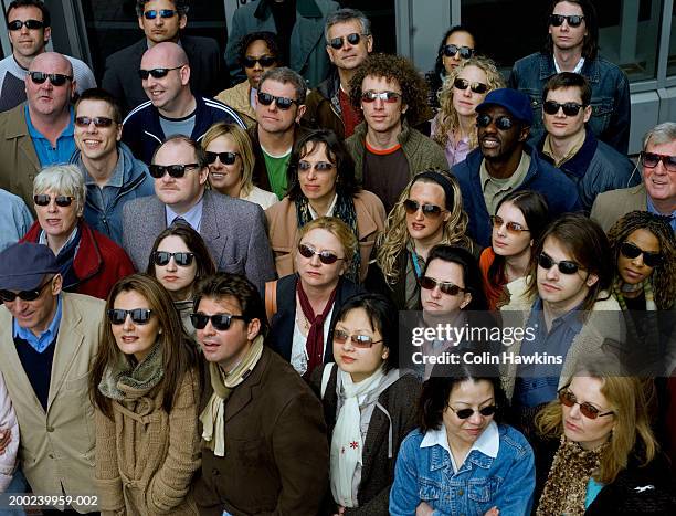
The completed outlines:
<svg viewBox="0 0 676 516">
<path fill-rule="evenodd" d="M 196 515 L 189 494 L 200 467 L 198 373 L 186 373 L 171 413 L 162 392 L 113 401 L 109 420 L 96 410 L 96 484 L 103 515 Z"/>
</svg>

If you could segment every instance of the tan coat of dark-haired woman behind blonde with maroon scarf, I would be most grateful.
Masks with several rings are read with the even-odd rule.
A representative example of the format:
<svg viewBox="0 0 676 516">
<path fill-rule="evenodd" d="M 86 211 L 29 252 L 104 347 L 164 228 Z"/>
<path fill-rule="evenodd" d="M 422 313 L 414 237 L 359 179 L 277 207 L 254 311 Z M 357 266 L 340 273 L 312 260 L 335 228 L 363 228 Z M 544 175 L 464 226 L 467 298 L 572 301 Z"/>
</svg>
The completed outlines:
<svg viewBox="0 0 676 516">
<path fill-rule="evenodd" d="M 382 201 L 368 190 L 361 190 L 355 196 L 357 212 L 357 232 L 359 233 L 359 253 L 361 268 L 359 278 L 366 278 L 369 270 L 369 259 L 378 234 L 384 229 L 385 211 Z M 277 275 L 284 277 L 296 272 L 294 250 L 298 236 L 296 204 L 285 197 L 282 201 L 265 210 L 270 229 L 270 243 L 275 255 Z"/>
</svg>

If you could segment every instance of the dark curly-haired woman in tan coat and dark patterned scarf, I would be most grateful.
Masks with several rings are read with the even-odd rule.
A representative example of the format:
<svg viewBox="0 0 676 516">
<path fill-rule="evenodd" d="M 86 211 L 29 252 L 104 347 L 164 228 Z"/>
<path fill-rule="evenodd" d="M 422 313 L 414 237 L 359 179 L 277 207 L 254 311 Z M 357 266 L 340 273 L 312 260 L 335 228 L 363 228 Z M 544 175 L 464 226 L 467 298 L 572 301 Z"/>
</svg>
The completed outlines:
<svg viewBox="0 0 676 516">
<path fill-rule="evenodd" d="M 384 228 L 385 211 L 378 197 L 357 185 L 355 164 L 344 143 L 331 130 L 308 133 L 296 143 L 287 175 L 288 194 L 265 210 L 277 275 L 296 272 L 293 255 L 298 230 L 313 219 L 336 217 L 359 243 L 346 262 L 346 276 L 361 283 Z"/>
</svg>

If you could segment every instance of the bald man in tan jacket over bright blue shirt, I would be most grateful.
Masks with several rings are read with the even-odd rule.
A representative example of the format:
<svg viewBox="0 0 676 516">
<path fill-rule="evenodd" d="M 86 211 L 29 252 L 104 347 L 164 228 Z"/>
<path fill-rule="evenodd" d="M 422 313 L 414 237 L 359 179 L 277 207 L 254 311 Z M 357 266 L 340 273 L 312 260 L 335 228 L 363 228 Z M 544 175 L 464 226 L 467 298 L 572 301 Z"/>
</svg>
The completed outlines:
<svg viewBox="0 0 676 516">
<path fill-rule="evenodd" d="M 42 167 L 67 164 L 75 151 L 73 66 L 62 54 L 38 55 L 25 75 L 27 101 L 0 114 L 0 188 L 33 207 Z"/>
</svg>

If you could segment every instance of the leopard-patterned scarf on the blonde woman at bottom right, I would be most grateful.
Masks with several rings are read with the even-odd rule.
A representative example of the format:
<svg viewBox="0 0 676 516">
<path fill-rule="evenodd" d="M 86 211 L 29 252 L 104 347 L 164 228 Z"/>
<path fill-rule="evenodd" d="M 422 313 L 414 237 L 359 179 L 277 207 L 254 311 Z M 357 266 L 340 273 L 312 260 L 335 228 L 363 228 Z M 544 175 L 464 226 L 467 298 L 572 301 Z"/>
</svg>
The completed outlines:
<svg viewBox="0 0 676 516">
<path fill-rule="evenodd" d="M 587 499 L 587 485 L 599 468 L 601 454 L 608 443 L 595 450 L 583 450 L 580 444 L 561 435 L 561 443 L 549 470 L 547 484 L 540 497 L 537 516 L 566 514 L 582 516 Z"/>
</svg>

